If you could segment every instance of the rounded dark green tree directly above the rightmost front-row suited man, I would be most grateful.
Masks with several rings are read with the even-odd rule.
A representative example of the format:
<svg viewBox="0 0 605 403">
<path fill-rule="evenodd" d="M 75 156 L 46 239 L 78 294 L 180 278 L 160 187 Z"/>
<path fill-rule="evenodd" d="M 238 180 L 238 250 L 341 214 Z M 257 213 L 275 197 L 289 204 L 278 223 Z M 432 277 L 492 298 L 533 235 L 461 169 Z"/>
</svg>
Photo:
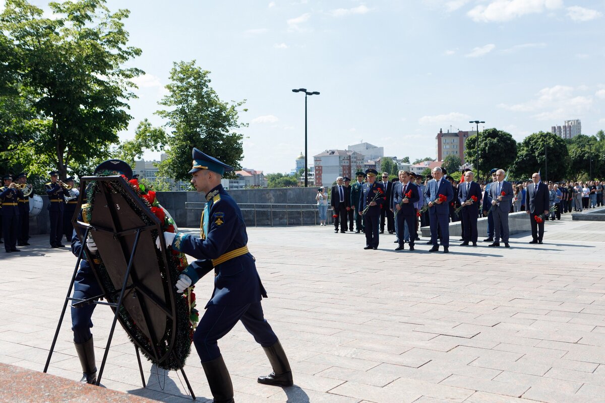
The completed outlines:
<svg viewBox="0 0 605 403">
<path fill-rule="evenodd" d="M 517 178 L 531 178 L 532 173 L 540 172 L 543 179 L 558 181 L 566 176 L 568 166 L 565 140 L 556 134 L 538 132 L 519 143 L 513 172 Z"/>
</svg>

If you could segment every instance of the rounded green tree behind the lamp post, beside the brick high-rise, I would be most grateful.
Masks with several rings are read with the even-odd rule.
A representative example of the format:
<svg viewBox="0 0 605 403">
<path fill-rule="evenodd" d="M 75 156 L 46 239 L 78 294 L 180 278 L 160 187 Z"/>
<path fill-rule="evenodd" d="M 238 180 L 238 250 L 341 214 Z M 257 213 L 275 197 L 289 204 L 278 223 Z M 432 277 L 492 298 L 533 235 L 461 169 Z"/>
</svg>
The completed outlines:
<svg viewBox="0 0 605 403">
<path fill-rule="evenodd" d="M 517 155 L 517 142 L 510 133 L 495 128 L 485 129 L 479 133 L 479 169 L 483 178 L 489 175 L 489 170 L 498 168 L 508 171 L 511 169 Z M 471 136 L 465 142 L 465 160 L 477 163 L 477 137 Z M 475 178 L 479 181 L 480 178 Z"/>
</svg>

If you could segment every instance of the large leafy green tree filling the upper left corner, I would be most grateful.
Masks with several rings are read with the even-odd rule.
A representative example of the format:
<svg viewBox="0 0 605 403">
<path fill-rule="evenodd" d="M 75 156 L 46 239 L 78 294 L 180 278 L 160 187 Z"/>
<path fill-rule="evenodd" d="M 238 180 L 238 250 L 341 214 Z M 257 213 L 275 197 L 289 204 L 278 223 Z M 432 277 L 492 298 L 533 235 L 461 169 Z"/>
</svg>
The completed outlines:
<svg viewBox="0 0 605 403">
<path fill-rule="evenodd" d="M 123 68 L 141 53 L 127 45 L 129 11 L 111 13 L 105 0 L 51 2 L 49 19 L 25 0 L 7 0 L 5 7 L 0 31 L 11 57 L 3 67 L 18 77 L 36 113 L 27 120 L 33 141 L 9 156 L 35 155 L 65 178 L 68 169 L 107 156 L 131 119 L 130 80 L 143 72 Z"/>
</svg>

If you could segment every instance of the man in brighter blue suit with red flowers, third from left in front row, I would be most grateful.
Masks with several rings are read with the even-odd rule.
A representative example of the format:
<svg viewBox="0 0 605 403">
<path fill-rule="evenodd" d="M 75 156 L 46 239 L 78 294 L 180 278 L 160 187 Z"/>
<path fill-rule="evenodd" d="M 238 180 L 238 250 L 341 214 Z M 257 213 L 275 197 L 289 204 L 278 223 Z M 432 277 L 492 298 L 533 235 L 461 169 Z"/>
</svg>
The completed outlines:
<svg viewBox="0 0 605 403">
<path fill-rule="evenodd" d="M 445 196 L 445 200 L 439 201 L 439 195 Z M 433 243 L 433 248 L 429 252 L 439 250 L 437 243 L 437 228 L 439 228 L 443 253 L 448 253 L 450 251 L 450 202 L 454 199 L 454 190 L 450 181 L 443 178 L 443 171 L 440 167 L 433 168 L 433 179 L 427 183 L 424 198 L 428 204 L 431 243 Z"/>
</svg>

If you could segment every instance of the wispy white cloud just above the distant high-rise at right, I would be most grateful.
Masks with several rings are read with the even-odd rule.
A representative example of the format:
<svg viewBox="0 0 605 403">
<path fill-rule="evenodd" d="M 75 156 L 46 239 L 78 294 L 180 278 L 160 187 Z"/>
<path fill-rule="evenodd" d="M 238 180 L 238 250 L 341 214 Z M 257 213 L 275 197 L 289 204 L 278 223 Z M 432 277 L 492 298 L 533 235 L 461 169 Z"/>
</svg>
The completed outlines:
<svg viewBox="0 0 605 403">
<path fill-rule="evenodd" d="M 581 89 L 555 85 L 541 89 L 536 94 L 536 98 L 528 102 L 498 106 L 512 112 L 535 112 L 532 117 L 537 120 L 564 120 L 570 115 L 582 115 L 592 107 L 592 97 L 577 94 L 578 91 Z"/>
</svg>

